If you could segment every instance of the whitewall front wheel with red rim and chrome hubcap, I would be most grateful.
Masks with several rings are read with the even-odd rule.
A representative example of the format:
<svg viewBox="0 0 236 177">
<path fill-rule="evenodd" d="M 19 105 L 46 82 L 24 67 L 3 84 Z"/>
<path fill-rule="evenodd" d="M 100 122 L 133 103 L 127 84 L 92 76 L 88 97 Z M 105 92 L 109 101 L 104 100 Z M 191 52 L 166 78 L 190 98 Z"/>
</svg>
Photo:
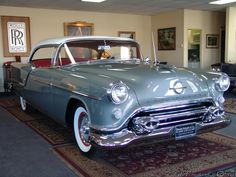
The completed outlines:
<svg viewBox="0 0 236 177">
<path fill-rule="evenodd" d="M 89 152 L 92 148 L 89 124 L 87 111 L 83 107 L 78 107 L 74 114 L 74 134 L 79 149 L 84 153 Z"/>
</svg>

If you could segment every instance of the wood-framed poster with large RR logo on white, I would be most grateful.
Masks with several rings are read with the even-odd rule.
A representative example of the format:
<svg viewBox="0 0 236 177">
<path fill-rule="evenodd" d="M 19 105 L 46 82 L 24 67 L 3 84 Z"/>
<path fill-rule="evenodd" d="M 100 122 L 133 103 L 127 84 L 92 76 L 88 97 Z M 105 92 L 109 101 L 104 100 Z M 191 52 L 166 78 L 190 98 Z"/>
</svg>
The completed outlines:
<svg viewBox="0 0 236 177">
<path fill-rule="evenodd" d="M 29 17 L 1 16 L 4 57 L 27 57 L 31 50 Z"/>
</svg>

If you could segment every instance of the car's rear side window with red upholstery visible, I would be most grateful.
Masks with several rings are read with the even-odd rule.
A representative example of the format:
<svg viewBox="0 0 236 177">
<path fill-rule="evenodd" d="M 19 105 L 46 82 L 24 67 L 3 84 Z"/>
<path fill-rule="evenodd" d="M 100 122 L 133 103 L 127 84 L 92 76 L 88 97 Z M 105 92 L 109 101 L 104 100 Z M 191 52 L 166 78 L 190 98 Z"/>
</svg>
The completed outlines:
<svg viewBox="0 0 236 177">
<path fill-rule="evenodd" d="M 51 67 L 51 61 L 56 52 L 55 47 L 39 48 L 31 58 L 31 63 L 38 67 Z"/>
</svg>

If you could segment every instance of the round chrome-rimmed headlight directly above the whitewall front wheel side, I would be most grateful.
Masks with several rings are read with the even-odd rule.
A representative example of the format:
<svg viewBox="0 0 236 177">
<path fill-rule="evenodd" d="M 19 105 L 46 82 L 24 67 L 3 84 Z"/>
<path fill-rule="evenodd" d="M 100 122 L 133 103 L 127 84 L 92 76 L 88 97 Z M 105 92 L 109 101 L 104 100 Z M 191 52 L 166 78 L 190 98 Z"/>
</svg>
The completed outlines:
<svg viewBox="0 0 236 177">
<path fill-rule="evenodd" d="M 115 104 L 124 103 L 128 98 L 128 87 L 122 82 L 113 84 L 110 97 Z"/>
</svg>

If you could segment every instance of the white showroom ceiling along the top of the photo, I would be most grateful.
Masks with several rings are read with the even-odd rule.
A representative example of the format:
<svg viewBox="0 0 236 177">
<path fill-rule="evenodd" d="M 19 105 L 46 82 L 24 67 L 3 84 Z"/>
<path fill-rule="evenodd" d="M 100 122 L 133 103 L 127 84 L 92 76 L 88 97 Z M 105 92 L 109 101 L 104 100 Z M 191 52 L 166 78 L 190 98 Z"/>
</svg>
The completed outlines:
<svg viewBox="0 0 236 177">
<path fill-rule="evenodd" d="M 175 9 L 222 11 L 223 6 L 208 4 L 211 0 L 106 0 L 102 3 L 81 2 L 81 0 L 0 0 L 0 6 L 63 9 L 93 12 L 112 12 L 136 15 L 154 15 Z"/>
</svg>

